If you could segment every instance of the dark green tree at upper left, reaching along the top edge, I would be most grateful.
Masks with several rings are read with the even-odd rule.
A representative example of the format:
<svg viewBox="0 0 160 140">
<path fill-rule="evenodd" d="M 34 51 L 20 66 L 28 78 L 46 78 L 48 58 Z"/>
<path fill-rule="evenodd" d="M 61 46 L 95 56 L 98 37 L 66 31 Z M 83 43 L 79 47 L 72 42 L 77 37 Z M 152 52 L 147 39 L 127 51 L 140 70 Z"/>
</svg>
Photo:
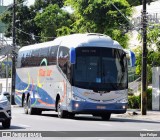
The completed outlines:
<svg viewBox="0 0 160 140">
<path fill-rule="evenodd" d="M 41 28 L 34 21 L 37 13 L 42 12 L 49 4 L 58 4 L 63 7 L 63 0 L 35 0 L 35 4 L 28 7 L 24 5 L 26 0 L 16 0 L 16 43 L 24 46 L 38 43 L 42 39 L 39 37 Z M 7 25 L 6 37 L 12 36 L 12 15 L 13 6 L 1 15 L 1 21 Z"/>
</svg>

